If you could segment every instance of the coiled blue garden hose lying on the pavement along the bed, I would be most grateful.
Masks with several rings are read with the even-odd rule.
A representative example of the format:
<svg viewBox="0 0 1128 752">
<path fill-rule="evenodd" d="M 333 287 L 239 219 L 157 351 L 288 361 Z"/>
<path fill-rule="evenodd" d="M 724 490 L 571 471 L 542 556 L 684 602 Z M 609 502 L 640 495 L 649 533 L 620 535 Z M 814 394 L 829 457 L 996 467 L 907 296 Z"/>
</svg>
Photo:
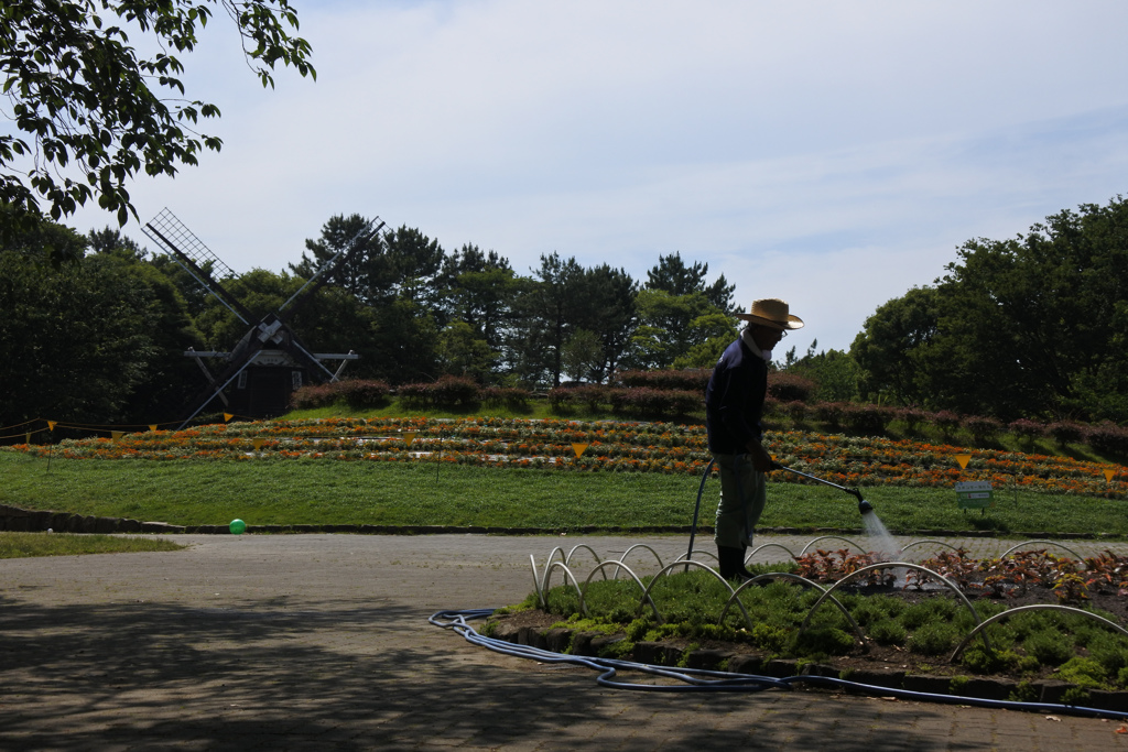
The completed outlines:
<svg viewBox="0 0 1128 752">
<path fill-rule="evenodd" d="M 787 676 L 775 679 L 773 676 L 758 676 L 755 674 L 737 674 L 726 671 L 710 671 L 706 669 L 671 669 L 669 666 L 655 666 L 646 663 L 635 663 L 633 661 L 620 661 L 616 658 L 598 658 L 580 655 L 563 655 L 528 645 L 514 645 L 493 637 L 483 637 L 468 623 L 470 619 L 484 619 L 492 614 L 494 609 L 472 609 L 472 610 L 448 610 L 438 611 L 428 621 L 443 629 L 452 629 L 460 634 L 470 644 L 485 647 L 495 653 L 512 655 L 519 658 L 531 658 L 541 663 L 570 663 L 573 665 L 587 666 L 599 671 L 596 683 L 600 687 L 614 689 L 627 689 L 641 692 L 760 692 L 768 689 L 793 690 L 796 684 L 813 684 L 818 687 L 829 687 L 845 689 L 861 695 L 872 695 L 879 697 L 896 697 L 902 700 L 916 700 L 919 702 L 942 702 L 945 705 L 969 705 L 980 708 L 1003 709 L 1003 710 L 1025 710 L 1033 713 L 1057 713 L 1070 716 L 1087 718 L 1109 718 L 1112 720 L 1128 720 L 1128 713 L 1119 710 L 1103 710 L 1101 708 L 1086 708 L 1076 705 L 1055 705 L 1052 702 L 1019 702 L 1015 700 L 988 700 L 978 697 L 961 697 L 959 695 L 937 695 L 935 692 L 918 692 L 907 689 L 891 689 L 889 687 L 876 687 L 836 679 L 834 676 Z M 640 684 L 616 680 L 619 671 L 638 671 L 652 676 L 662 676 L 681 682 L 680 684 Z"/>
</svg>

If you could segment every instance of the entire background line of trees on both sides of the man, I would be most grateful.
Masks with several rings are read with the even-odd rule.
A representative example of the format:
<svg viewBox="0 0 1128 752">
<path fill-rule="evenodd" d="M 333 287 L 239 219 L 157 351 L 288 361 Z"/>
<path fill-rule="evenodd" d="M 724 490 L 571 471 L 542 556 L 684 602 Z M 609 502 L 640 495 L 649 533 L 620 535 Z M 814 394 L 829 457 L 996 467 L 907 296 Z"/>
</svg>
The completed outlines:
<svg viewBox="0 0 1128 752">
<path fill-rule="evenodd" d="M 288 269 L 221 283 L 264 316 L 367 221 L 333 216 Z M 359 353 L 354 379 L 606 383 L 627 370 L 708 369 L 738 334 L 733 285 L 679 253 L 635 280 L 556 253 L 521 274 L 493 250 L 447 250 L 407 227 L 358 250 L 291 320 L 317 352 Z M 1128 203 L 1118 196 L 1012 239 L 969 240 L 943 277 L 879 306 L 848 351 L 814 340 L 773 368 L 809 379 L 812 401 L 1123 423 L 1126 287 Z M 0 309 L 0 425 L 174 419 L 202 383 L 184 352 L 230 351 L 246 333 L 173 258 L 117 230 L 83 236 L 52 222 L 7 235 Z"/>
</svg>

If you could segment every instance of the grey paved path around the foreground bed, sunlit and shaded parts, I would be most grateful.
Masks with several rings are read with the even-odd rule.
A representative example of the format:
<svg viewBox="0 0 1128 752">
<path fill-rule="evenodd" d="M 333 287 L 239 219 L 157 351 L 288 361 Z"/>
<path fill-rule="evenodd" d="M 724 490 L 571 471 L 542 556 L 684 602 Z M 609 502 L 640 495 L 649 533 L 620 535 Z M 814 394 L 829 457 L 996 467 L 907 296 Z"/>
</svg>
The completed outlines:
<svg viewBox="0 0 1128 752">
<path fill-rule="evenodd" d="M 171 538 L 190 548 L 0 561 L 0 750 L 1128 749 L 1119 723 L 1065 715 L 608 690 L 426 622 L 522 600 L 556 545 L 672 560 L 684 538 Z"/>
</svg>

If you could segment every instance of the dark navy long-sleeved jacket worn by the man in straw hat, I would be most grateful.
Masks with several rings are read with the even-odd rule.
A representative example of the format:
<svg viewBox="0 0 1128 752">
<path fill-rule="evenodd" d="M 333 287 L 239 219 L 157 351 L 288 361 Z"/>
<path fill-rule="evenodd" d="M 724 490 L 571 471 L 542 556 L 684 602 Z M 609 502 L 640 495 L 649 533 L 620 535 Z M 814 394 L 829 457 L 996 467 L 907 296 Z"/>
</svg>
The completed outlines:
<svg viewBox="0 0 1128 752">
<path fill-rule="evenodd" d="M 768 364 L 742 338 L 729 345 L 705 388 L 705 427 L 714 454 L 742 454 L 752 439 L 761 439 Z"/>
</svg>

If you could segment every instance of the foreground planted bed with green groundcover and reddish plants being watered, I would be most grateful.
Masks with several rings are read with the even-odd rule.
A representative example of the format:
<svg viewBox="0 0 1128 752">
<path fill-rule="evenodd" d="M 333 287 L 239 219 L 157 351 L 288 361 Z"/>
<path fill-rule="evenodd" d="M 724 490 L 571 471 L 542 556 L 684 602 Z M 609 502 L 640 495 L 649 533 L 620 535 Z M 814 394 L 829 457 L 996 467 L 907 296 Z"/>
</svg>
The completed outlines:
<svg viewBox="0 0 1128 752">
<path fill-rule="evenodd" d="M 1038 549 L 977 560 L 955 550 L 920 561 L 970 601 L 935 586 L 927 574 L 893 563 L 889 569 L 870 567 L 880 563 L 888 559 L 844 549 L 751 565 L 754 574 L 765 577 L 741 589 L 739 611 L 729 608 L 732 590 L 702 569 L 673 568 L 654 578 L 635 567 L 632 574 L 641 581 L 620 573 L 601 581 L 570 567 L 571 576 L 558 586 L 546 574 L 543 591 L 530 594 L 515 613 L 500 610 L 485 631 L 529 627 L 573 652 L 578 634 L 594 631 L 605 636 L 601 647 L 583 655 L 661 662 L 672 648 L 689 665 L 724 662 L 730 671 L 760 673 L 774 661 L 790 662 L 777 666 L 785 673 L 772 675 L 797 673 L 796 661 L 818 662 L 822 675 L 856 672 L 867 682 L 905 689 L 910 689 L 908 675 L 929 674 L 936 687 L 929 691 L 953 695 L 968 689 L 970 672 L 1001 680 L 990 688 L 994 699 L 1045 699 L 1047 684 L 1067 682 L 1072 687 L 1049 701 L 1084 702 L 1104 692 L 1104 701 L 1128 707 L 1128 639 L 1117 629 L 1128 622 L 1128 557 L 1105 551 L 1070 559 Z M 869 576 L 841 582 L 854 573 Z M 840 583 L 836 598 L 852 621 L 834 608 L 817 609 L 822 591 L 786 580 L 793 575 Z M 1066 608 L 1047 610 L 1055 605 Z M 1077 613 L 1077 607 L 1100 619 Z M 968 639 L 977 623 L 992 617 L 982 630 L 989 643 Z M 569 628 L 570 642 L 562 642 L 559 632 Z M 521 640 L 539 642 L 528 632 Z M 738 664 L 743 667 L 734 669 Z"/>
</svg>

